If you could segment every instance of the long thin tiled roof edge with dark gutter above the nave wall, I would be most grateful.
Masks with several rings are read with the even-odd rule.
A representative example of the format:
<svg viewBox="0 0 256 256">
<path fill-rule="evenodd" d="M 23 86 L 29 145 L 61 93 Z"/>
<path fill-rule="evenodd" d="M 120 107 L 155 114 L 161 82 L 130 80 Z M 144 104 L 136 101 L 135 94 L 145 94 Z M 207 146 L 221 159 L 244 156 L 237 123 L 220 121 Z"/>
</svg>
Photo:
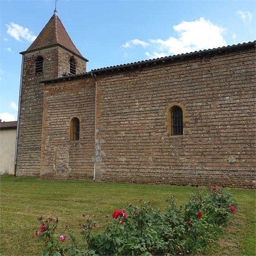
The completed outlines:
<svg viewBox="0 0 256 256">
<path fill-rule="evenodd" d="M 199 51 L 195 51 L 195 52 L 177 54 L 177 55 L 172 55 L 172 56 L 167 56 L 167 57 L 153 58 L 153 59 L 149 59 L 149 60 L 131 62 L 131 63 L 123 64 L 123 65 L 104 67 L 104 68 L 100 68 L 100 69 L 92 69 L 89 72 L 80 73 L 80 74 L 76 74 L 76 75 L 69 75 L 69 76 L 65 76 L 65 77 L 57 77 L 57 78 L 42 80 L 42 81 L 40 81 L 40 83 L 48 83 L 48 82 L 52 82 L 52 81 L 72 79 L 75 77 L 97 74 L 97 73 L 101 73 L 104 71 L 122 70 L 122 69 L 129 68 L 129 67 L 156 64 L 156 63 L 165 62 L 168 60 L 185 59 L 185 58 L 189 58 L 189 57 L 193 57 L 193 56 L 196 57 L 196 56 L 201 56 L 201 55 L 205 55 L 205 54 L 221 53 L 221 52 L 227 52 L 227 51 L 232 51 L 232 50 L 237 50 L 237 49 L 242 49 L 242 48 L 249 48 L 249 47 L 255 48 L 255 45 L 256 45 L 256 41 L 253 41 L 253 42 L 247 42 L 247 43 L 242 43 L 242 44 L 233 44 L 232 46 L 228 45 L 228 46 L 223 46 L 223 47 L 213 48 L 213 49 L 208 49 L 208 50 L 199 50 Z"/>
</svg>

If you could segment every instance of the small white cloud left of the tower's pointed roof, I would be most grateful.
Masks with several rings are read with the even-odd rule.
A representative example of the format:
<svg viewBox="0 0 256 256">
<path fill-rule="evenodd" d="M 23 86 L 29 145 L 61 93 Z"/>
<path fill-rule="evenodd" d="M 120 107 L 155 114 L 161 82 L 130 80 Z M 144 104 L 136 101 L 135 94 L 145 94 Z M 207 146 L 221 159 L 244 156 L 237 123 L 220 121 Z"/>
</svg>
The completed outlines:
<svg viewBox="0 0 256 256">
<path fill-rule="evenodd" d="M 7 24 L 6 26 L 8 27 L 7 33 L 18 41 L 21 41 L 21 38 L 24 38 L 28 42 L 33 42 L 36 38 L 33 32 L 29 31 L 29 29 L 26 27 L 22 27 L 13 22 L 11 22 L 10 25 Z"/>
</svg>

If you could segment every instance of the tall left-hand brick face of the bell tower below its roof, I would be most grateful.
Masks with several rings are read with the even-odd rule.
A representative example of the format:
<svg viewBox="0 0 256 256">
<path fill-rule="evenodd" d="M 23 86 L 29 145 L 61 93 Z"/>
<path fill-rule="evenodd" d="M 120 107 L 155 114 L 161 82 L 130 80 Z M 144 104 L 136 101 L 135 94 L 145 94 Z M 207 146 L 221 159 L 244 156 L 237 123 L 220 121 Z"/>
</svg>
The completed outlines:
<svg viewBox="0 0 256 256">
<path fill-rule="evenodd" d="M 35 59 L 39 55 L 44 58 L 43 73 L 35 74 Z M 40 174 L 43 85 L 39 81 L 57 75 L 56 49 L 25 54 L 17 155 L 18 176 Z"/>
</svg>

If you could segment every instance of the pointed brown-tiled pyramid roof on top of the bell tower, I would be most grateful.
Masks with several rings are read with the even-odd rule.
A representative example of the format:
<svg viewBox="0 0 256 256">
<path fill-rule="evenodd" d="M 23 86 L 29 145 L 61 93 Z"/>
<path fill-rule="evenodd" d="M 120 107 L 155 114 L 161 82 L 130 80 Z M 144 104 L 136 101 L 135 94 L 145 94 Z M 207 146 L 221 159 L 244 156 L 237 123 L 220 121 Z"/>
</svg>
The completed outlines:
<svg viewBox="0 0 256 256">
<path fill-rule="evenodd" d="M 56 44 L 60 44 L 71 52 L 74 52 L 75 54 L 83 57 L 79 50 L 77 50 L 77 48 L 73 44 L 58 15 L 56 14 L 56 12 L 54 12 L 54 15 L 52 15 L 52 17 L 45 25 L 43 30 L 40 32 L 40 34 L 37 36 L 35 41 L 31 44 L 31 46 L 29 46 L 29 48 L 25 52 L 53 46 Z"/>
</svg>

